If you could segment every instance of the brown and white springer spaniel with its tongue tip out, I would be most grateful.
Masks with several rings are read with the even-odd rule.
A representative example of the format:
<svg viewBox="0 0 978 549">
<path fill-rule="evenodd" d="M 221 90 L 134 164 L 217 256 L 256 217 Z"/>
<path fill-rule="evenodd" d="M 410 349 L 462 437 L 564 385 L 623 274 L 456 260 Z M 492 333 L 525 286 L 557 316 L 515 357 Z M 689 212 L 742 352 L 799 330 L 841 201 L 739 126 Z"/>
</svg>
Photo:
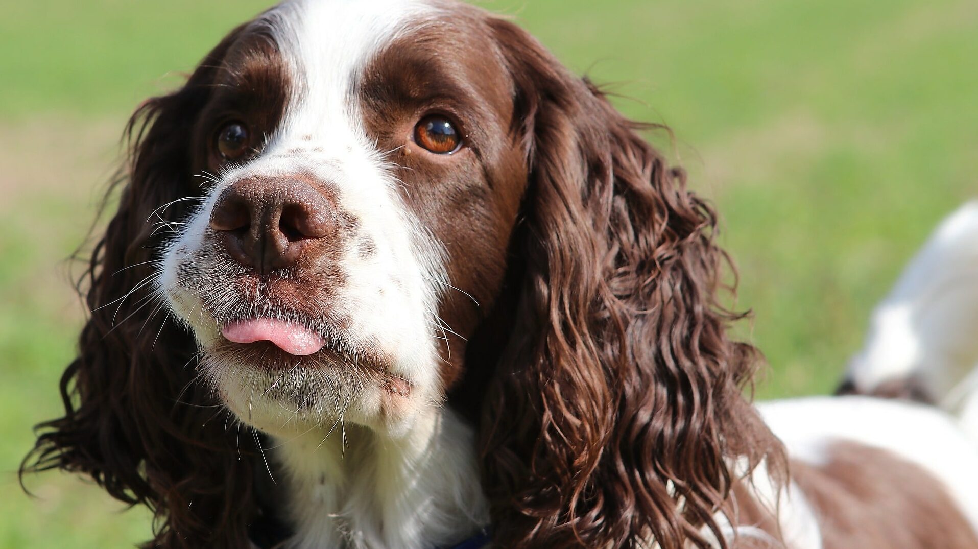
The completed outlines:
<svg viewBox="0 0 978 549">
<path fill-rule="evenodd" d="M 238 27 L 129 124 L 24 469 L 150 547 L 978 547 L 940 412 L 742 396 L 715 214 L 642 127 L 452 0 Z"/>
</svg>

